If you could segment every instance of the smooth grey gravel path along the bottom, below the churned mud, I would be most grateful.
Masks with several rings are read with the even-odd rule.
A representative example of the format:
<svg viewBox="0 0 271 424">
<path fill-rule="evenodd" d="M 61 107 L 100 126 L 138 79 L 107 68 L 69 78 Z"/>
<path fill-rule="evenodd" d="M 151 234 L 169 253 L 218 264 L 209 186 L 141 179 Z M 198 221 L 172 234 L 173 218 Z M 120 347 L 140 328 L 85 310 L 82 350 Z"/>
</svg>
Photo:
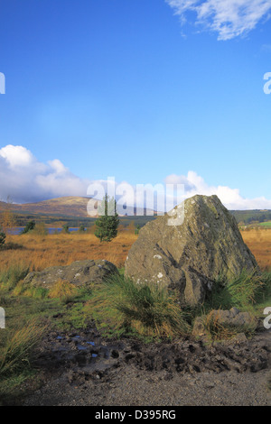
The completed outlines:
<svg viewBox="0 0 271 424">
<path fill-rule="evenodd" d="M 25 405 L 45 406 L 270 406 L 266 390 L 268 373 L 234 372 L 146 376 L 135 367 L 121 370 L 110 383 L 69 383 L 69 373 L 52 379 Z"/>
</svg>

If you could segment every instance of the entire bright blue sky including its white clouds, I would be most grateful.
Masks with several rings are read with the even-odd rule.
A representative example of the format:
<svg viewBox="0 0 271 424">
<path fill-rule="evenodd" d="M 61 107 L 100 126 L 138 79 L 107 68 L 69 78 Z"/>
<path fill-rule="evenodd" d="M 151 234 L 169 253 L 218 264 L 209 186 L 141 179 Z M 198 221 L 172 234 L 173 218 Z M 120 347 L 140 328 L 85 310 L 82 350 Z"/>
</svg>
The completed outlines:
<svg viewBox="0 0 271 424">
<path fill-rule="evenodd" d="M 271 0 L 1 0 L 0 14 L 0 198 L 84 196 L 114 176 L 271 208 Z"/>
</svg>

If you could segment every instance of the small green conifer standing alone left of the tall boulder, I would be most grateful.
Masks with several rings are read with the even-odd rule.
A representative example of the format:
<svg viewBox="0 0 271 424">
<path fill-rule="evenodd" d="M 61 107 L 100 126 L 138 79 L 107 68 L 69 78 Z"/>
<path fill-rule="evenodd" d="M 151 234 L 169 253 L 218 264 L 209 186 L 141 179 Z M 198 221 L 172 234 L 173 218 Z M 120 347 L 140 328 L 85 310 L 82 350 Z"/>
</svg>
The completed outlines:
<svg viewBox="0 0 271 424">
<path fill-rule="evenodd" d="M 100 242 L 111 242 L 117 236 L 117 227 L 119 218 L 117 215 L 117 203 L 115 198 L 108 198 L 108 195 L 103 198 L 98 214 L 101 215 L 96 220 L 95 235 Z"/>
</svg>

